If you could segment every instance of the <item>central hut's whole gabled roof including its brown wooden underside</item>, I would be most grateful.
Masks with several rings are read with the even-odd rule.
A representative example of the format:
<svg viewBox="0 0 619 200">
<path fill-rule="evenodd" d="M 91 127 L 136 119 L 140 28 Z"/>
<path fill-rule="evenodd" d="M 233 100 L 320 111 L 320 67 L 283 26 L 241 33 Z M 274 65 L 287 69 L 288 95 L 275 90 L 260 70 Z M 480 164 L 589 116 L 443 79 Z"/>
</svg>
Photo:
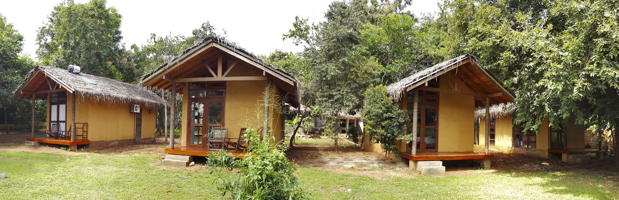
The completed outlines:
<svg viewBox="0 0 619 200">
<path fill-rule="evenodd" d="M 204 65 L 215 66 L 219 64 L 219 60 L 214 57 L 223 56 L 226 59 L 233 59 L 244 62 L 248 66 L 253 67 L 260 73 L 264 72 L 264 76 L 272 83 L 275 83 L 279 89 L 285 91 L 282 96 L 287 96 L 287 101 L 295 107 L 298 107 L 300 102 L 300 87 L 301 82 L 297 77 L 284 69 L 275 67 L 260 59 L 244 48 L 236 46 L 217 36 L 207 36 L 200 43 L 185 49 L 180 55 L 173 57 L 170 61 L 160 65 L 157 69 L 146 73 L 141 78 L 141 84 L 145 86 L 153 86 L 155 88 L 163 88 L 171 90 L 172 81 L 168 78 L 204 78 L 212 77 L 206 71 Z M 216 60 L 217 62 L 213 62 Z M 227 66 L 222 66 L 227 67 Z M 210 68 L 210 67 L 209 67 Z M 165 77 L 164 77 L 165 76 Z M 166 78 L 167 77 L 167 78 Z M 219 77 L 222 78 L 222 77 Z M 176 86 L 176 93 L 183 91 L 183 85 Z"/>
</svg>

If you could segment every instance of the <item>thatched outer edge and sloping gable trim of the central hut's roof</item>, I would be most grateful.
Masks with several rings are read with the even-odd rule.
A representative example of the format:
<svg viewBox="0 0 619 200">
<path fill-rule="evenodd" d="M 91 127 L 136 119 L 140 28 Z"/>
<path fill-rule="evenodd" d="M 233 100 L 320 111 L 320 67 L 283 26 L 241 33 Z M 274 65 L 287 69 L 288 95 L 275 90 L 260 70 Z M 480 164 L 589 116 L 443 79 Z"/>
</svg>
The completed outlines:
<svg viewBox="0 0 619 200">
<path fill-rule="evenodd" d="M 165 88 L 165 87 L 167 87 L 167 85 L 170 85 L 170 83 L 159 84 L 160 81 L 165 81 L 165 80 L 161 80 L 161 78 L 160 78 L 162 73 L 165 73 L 166 70 L 168 70 L 170 68 L 174 68 L 178 64 L 180 64 L 182 62 L 185 62 L 187 60 L 186 58 L 191 57 L 191 55 L 193 55 L 194 53 L 198 52 L 202 48 L 206 48 L 208 46 L 208 44 L 211 44 L 211 43 L 219 44 L 219 46 L 222 46 L 224 49 L 230 50 L 234 54 L 236 54 L 234 56 L 243 57 L 245 59 L 248 59 L 249 62 L 252 62 L 254 64 L 257 64 L 259 66 L 262 66 L 262 67 L 266 68 L 267 74 L 268 73 L 272 73 L 274 75 L 278 75 L 280 77 L 284 77 L 284 79 L 286 79 L 287 81 L 291 81 L 293 84 L 290 85 L 290 87 L 293 87 L 293 90 L 295 90 L 295 91 L 290 91 L 290 92 L 296 93 L 296 94 L 293 94 L 295 96 L 295 99 L 293 99 L 293 100 L 296 101 L 295 105 L 298 106 L 298 102 L 300 102 L 300 95 L 299 94 L 300 94 L 300 88 L 301 88 L 301 81 L 298 80 L 297 77 L 295 77 L 291 73 L 286 72 L 284 69 L 280 69 L 279 67 L 275 67 L 275 65 L 267 63 L 265 60 L 260 59 L 258 56 L 256 56 L 253 53 L 247 51 L 246 49 L 240 48 L 239 46 L 236 46 L 236 44 L 230 43 L 230 42 L 228 42 L 226 40 L 223 40 L 222 38 L 219 38 L 217 36 L 207 36 L 201 42 L 195 44 L 191 48 L 185 49 L 181 54 L 179 54 L 176 57 L 173 57 L 172 59 L 170 59 L 165 64 L 160 65 L 159 67 L 157 67 L 157 69 L 152 70 L 151 72 L 146 73 L 145 75 L 142 75 L 141 83 L 142 84 L 147 84 L 147 85 L 152 85 L 153 83 L 149 83 L 149 82 L 154 81 L 154 82 L 157 82 L 156 85 L 159 85 L 159 86 L 157 86 L 158 88 Z M 165 88 L 165 89 L 167 90 L 168 88 Z M 180 91 L 180 87 L 177 87 L 176 89 Z"/>
</svg>

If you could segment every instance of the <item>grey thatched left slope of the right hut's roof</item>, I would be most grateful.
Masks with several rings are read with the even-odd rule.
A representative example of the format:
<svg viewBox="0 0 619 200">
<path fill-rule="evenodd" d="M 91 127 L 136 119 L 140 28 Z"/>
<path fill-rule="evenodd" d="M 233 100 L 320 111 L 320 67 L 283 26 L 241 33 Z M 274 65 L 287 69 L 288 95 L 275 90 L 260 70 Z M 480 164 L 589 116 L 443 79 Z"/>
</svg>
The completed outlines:
<svg viewBox="0 0 619 200">
<path fill-rule="evenodd" d="M 432 67 L 428 67 L 424 70 L 421 70 L 420 72 L 410 75 L 410 77 L 402 78 L 396 83 L 391 83 L 391 85 L 387 86 L 387 91 L 389 91 L 389 94 L 391 94 L 394 100 L 399 101 L 400 98 L 402 98 L 402 91 L 404 91 L 408 86 L 411 86 L 418 81 L 422 81 L 425 78 L 428 78 L 438 72 L 446 70 L 452 65 L 462 62 L 462 60 L 465 60 L 467 58 L 470 58 L 473 62 L 475 62 L 475 64 L 478 64 L 477 57 L 471 54 L 464 54 L 462 56 L 458 56 L 453 59 L 449 59 L 447 61 L 436 64 Z"/>
</svg>

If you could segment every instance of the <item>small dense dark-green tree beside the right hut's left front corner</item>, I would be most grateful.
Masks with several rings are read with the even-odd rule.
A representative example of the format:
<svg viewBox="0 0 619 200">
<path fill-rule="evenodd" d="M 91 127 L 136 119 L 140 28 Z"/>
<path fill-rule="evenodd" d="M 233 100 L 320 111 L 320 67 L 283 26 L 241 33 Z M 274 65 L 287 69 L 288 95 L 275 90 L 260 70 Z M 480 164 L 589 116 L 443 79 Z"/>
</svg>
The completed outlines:
<svg viewBox="0 0 619 200">
<path fill-rule="evenodd" d="M 394 104 L 387 87 L 378 85 L 368 88 L 365 92 L 365 104 L 360 112 L 361 119 L 365 122 L 365 133 L 375 143 L 381 144 L 385 158 L 388 158 L 389 153 L 397 153 L 396 140 L 406 138 L 407 122 L 410 120 L 407 111 Z"/>
</svg>

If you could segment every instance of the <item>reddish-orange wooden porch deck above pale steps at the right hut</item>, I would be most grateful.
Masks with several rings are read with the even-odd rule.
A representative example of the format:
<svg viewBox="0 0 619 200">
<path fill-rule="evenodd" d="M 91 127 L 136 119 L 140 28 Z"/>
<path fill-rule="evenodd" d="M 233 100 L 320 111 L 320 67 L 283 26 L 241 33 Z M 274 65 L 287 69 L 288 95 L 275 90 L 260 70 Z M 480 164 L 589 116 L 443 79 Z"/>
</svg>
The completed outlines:
<svg viewBox="0 0 619 200">
<path fill-rule="evenodd" d="M 495 157 L 495 154 L 476 152 L 418 152 L 413 156 L 410 152 L 400 153 L 400 156 L 409 160 L 469 160 Z"/>
</svg>

